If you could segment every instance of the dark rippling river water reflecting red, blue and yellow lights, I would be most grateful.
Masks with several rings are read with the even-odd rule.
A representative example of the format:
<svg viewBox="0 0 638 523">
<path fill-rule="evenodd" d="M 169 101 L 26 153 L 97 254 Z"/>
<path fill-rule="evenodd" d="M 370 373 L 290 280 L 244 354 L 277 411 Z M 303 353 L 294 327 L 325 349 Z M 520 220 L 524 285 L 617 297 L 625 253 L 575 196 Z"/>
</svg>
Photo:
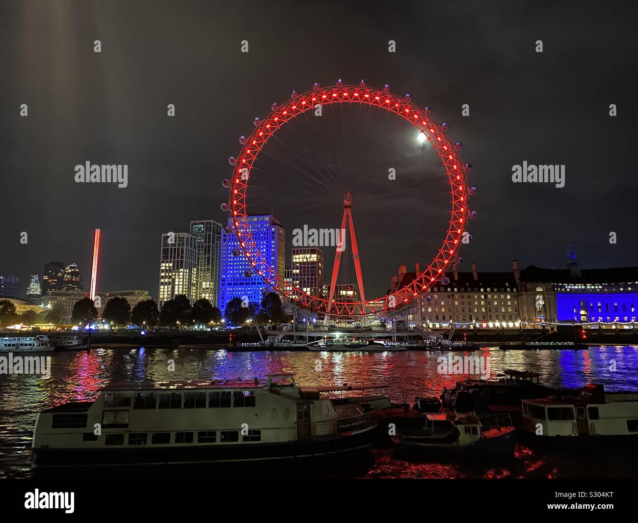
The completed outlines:
<svg viewBox="0 0 638 523">
<path fill-rule="evenodd" d="M 117 348 L 52 352 L 49 379 L 36 375 L 0 375 L 0 478 L 31 476 L 31 436 L 41 409 L 68 401 L 93 400 L 101 387 L 118 381 L 167 381 L 262 377 L 295 372 L 302 386 L 375 383 L 401 402 L 440 394 L 467 375 L 438 374 L 437 358 L 447 352 L 228 352 L 206 349 Z M 638 347 L 590 347 L 586 351 L 452 352 L 459 356 L 490 356 L 491 372 L 506 368 L 540 373 L 543 384 L 575 388 L 602 383 L 605 390 L 638 391 Z M 42 354 L 45 355 L 45 354 Z M 174 371 L 169 371 L 174 360 Z M 317 361 L 321 370 L 316 372 Z M 611 370 L 615 367 L 615 370 Z M 345 459 L 345 462 L 348 462 Z M 298 471 L 312 476 L 312 467 Z M 122 472 L 124 474 L 125 472 Z M 152 474 L 152 471 L 149 471 Z M 409 463 L 389 449 L 375 449 L 357 466 L 343 466 L 319 475 L 364 478 L 579 478 L 638 477 L 638 450 L 579 448 L 547 450 L 517 444 L 514 457 L 491 462 Z M 185 475 L 190 475 L 186 473 Z"/>
</svg>

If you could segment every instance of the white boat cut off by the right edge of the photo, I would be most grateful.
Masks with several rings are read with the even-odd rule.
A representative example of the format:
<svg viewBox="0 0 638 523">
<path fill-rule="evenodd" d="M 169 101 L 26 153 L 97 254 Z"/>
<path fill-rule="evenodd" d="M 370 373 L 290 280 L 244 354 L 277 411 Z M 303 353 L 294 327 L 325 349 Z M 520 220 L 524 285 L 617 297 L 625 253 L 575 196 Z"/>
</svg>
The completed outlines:
<svg viewBox="0 0 638 523">
<path fill-rule="evenodd" d="M 635 444 L 638 393 L 610 393 L 602 385 L 588 385 L 580 395 L 526 399 L 523 430 L 541 441 L 613 439 Z"/>
</svg>

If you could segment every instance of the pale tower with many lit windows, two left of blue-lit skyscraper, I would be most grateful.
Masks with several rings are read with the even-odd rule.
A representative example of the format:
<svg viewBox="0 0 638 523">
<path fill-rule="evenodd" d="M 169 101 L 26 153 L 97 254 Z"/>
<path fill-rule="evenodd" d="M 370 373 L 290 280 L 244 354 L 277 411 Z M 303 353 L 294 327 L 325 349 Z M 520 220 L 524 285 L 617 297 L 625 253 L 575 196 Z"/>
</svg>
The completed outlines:
<svg viewBox="0 0 638 523">
<path fill-rule="evenodd" d="M 188 232 L 165 232 L 161 235 L 159 255 L 159 308 L 178 294 L 193 300 L 195 274 L 195 236 Z"/>
</svg>

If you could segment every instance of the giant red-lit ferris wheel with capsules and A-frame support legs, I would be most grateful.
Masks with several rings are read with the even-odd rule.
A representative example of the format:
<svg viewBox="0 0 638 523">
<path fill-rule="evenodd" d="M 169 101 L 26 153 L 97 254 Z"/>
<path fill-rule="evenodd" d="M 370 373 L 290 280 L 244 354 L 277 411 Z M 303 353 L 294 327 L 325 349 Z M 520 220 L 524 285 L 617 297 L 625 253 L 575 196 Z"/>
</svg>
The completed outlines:
<svg viewBox="0 0 638 523">
<path fill-rule="evenodd" d="M 317 117 L 336 109 L 341 112 L 330 113 L 333 116 L 332 119 Z M 357 110 L 358 112 L 355 112 Z M 246 256 L 251 271 L 263 278 L 268 289 L 278 292 L 286 301 L 313 314 L 337 318 L 352 319 L 369 314 L 387 314 L 392 310 L 405 307 L 417 296 L 429 291 L 437 282 L 443 281 L 445 284 L 446 270 L 451 264 L 463 261 L 458 255 L 459 247 L 462 243 L 466 243 L 464 239 L 468 236 L 471 238 L 465 230 L 468 220 L 474 218 L 476 212 L 470 211 L 468 199 L 476 192 L 476 188 L 468 186 L 466 175 L 471 165 L 461 161 L 459 156 L 461 142 L 452 142 L 447 136 L 447 124 L 438 125 L 430 116 L 430 112 L 430 107 L 422 109 L 415 105 L 410 95 L 397 96 L 390 93 L 388 84 L 385 84 L 382 89 L 375 89 L 368 87 L 365 80 L 361 80 L 358 85 L 346 85 L 338 80 L 336 85 L 330 87 L 322 87 L 315 83 L 313 89 L 307 93 L 300 94 L 292 91 L 290 100 L 282 105 L 273 102 L 268 116 L 263 119 L 255 117 L 253 121 L 255 130 L 251 135 L 239 137 L 241 144 L 239 154 L 228 159 L 233 165 L 233 173 L 230 179 L 223 181 L 223 185 L 230 193 L 228 202 L 221 204 L 221 208 L 229 214 L 226 232 L 234 232 L 239 239 L 240 248 L 233 254 Z M 438 155 L 437 168 L 441 169 L 442 164 L 443 169 L 436 172 L 431 182 L 437 189 L 431 190 L 427 193 L 427 198 L 422 199 L 427 199 L 428 202 L 434 199 L 443 202 L 445 207 L 439 211 L 438 215 L 445 216 L 445 220 L 441 222 L 445 224 L 439 226 L 441 234 L 436 245 L 431 245 L 427 249 L 429 252 L 422 258 L 424 259 L 423 269 L 417 270 L 415 277 L 400 288 L 377 292 L 376 297 L 371 298 L 369 292 L 364 293 L 363 288 L 359 246 L 352 216 L 352 208 L 356 206 L 359 194 L 350 191 L 350 184 L 354 183 L 350 173 L 362 171 L 364 174 L 360 178 L 366 179 L 367 171 L 373 167 L 366 167 L 364 163 L 367 157 L 373 155 L 376 147 L 374 144 L 361 146 L 361 150 L 367 152 L 360 156 L 366 156 L 366 158 L 350 162 L 356 165 L 355 169 L 352 166 L 346 167 L 348 162 L 342 157 L 343 155 L 339 156 L 336 144 L 346 144 L 341 146 L 343 149 L 350 148 L 349 132 L 341 128 L 348 117 L 355 115 L 357 120 L 354 127 L 365 131 L 372 128 L 373 123 L 378 122 L 380 118 L 378 114 L 389 115 L 390 119 L 398 119 L 403 125 L 409 125 L 412 132 L 417 131 L 417 141 L 428 144 L 429 148 Z M 305 128 L 299 127 L 298 125 L 302 125 L 304 119 L 308 125 Z M 335 133 L 334 129 L 330 128 L 331 125 L 333 128 L 340 129 Z M 387 132 L 391 134 L 391 131 Z M 295 140 L 292 145 L 286 144 L 283 139 L 286 133 Z M 333 141 L 330 142 L 330 140 Z M 320 149 L 320 146 L 324 146 L 323 149 Z M 325 165 L 318 165 L 321 163 Z M 260 176 L 256 177 L 255 174 L 258 171 Z M 292 173 L 288 179 L 285 179 L 282 174 L 284 171 Z M 293 188 L 290 188 L 291 179 L 296 182 Z M 347 181 L 344 181 L 345 179 Z M 418 180 L 415 184 L 419 184 L 415 187 L 422 185 Z M 281 269 L 272 263 L 269 253 L 261 252 L 258 242 L 251 233 L 250 190 L 253 185 L 257 187 L 255 190 L 262 191 L 262 195 L 270 195 L 271 208 L 274 208 L 274 212 L 278 206 L 294 204 L 300 211 L 310 213 L 313 206 L 304 201 L 303 195 L 309 193 L 309 188 L 312 186 L 320 187 L 322 190 L 322 193 L 316 197 L 318 200 L 314 206 L 316 208 L 324 205 L 330 192 L 334 191 L 338 195 L 339 204 L 343 203 L 341 230 L 350 233 L 353 264 L 360 289 L 358 299 L 341 299 L 334 294 L 343 251 L 341 249 L 337 249 L 335 255 L 329 294 L 313 294 L 295 287 L 290 279 L 286 281 L 285 275 L 280 273 Z M 344 188 L 346 190 L 343 190 Z M 415 191 L 417 191 L 416 188 Z M 332 218 L 337 224 L 339 220 L 336 214 L 341 213 L 341 207 L 334 209 Z M 360 221 L 365 226 L 369 220 L 362 218 Z M 403 219 L 404 224 L 413 222 L 417 222 L 415 227 L 422 227 L 422 229 L 427 229 L 428 224 L 431 223 L 430 220 Z M 423 223 L 419 224 L 419 222 Z M 399 224 L 397 229 L 401 228 Z M 400 234 L 400 231 L 397 234 Z M 381 247 L 377 252 L 382 253 L 383 248 Z"/>
</svg>

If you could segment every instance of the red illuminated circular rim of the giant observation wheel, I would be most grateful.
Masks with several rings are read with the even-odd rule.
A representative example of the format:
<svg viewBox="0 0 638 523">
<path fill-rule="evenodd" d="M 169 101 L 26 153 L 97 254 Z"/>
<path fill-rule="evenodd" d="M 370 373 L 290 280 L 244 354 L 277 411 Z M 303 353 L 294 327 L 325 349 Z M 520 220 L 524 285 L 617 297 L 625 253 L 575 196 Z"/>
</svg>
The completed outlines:
<svg viewBox="0 0 638 523">
<path fill-rule="evenodd" d="M 429 263 L 419 277 L 402 289 L 387 294 L 382 298 L 365 301 L 344 302 L 312 296 L 286 282 L 272 268 L 267 258 L 262 255 L 251 236 L 248 222 L 246 190 L 250 181 L 250 171 L 262 148 L 280 128 L 293 118 L 308 110 L 315 110 L 317 104 L 360 103 L 385 109 L 403 117 L 424 133 L 436 153 L 438 153 L 450 185 L 450 217 L 449 227 L 438 249 L 438 254 Z M 267 287 L 279 292 L 281 296 L 293 301 L 296 305 L 317 314 L 329 314 L 333 317 L 358 317 L 367 314 L 384 314 L 389 310 L 401 308 L 427 292 L 429 287 L 444 277 L 448 266 L 456 261 L 457 250 L 466 227 L 470 210 L 468 209 L 468 186 L 466 183 L 466 167 L 459 157 L 457 147 L 447 137 L 445 129 L 429 116 L 429 110 L 420 109 L 412 103 L 408 96 L 401 97 L 380 90 L 362 86 L 334 86 L 318 88 L 302 95 L 297 95 L 289 102 L 274 107 L 262 121 L 258 121 L 255 131 L 244 141 L 242 149 L 235 160 L 235 168 L 230 180 L 230 199 L 228 212 L 239 245 L 249 260 L 253 270 L 265 280 Z"/>
</svg>

